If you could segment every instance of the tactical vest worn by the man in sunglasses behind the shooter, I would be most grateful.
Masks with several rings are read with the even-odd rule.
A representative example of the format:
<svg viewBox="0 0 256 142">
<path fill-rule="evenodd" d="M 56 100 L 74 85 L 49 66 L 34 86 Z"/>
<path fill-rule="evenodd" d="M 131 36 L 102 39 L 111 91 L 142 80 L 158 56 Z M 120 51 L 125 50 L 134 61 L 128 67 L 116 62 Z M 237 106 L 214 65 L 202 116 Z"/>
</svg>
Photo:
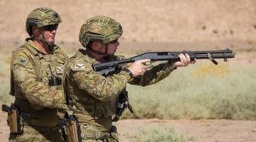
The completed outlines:
<svg viewBox="0 0 256 142">
<path fill-rule="evenodd" d="M 36 80 L 38 82 L 47 82 L 49 88 L 61 90 L 61 76 L 62 69 L 67 60 L 67 55 L 61 51 L 61 48 L 56 48 L 54 54 L 42 54 L 36 48 L 33 48 L 29 43 L 25 43 L 17 50 L 24 50 L 27 54 L 32 54 L 32 65 L 34 67 Z M 14 52 L 11 60 L 11 65 L 14 64 L 14 59 L 17 52 Z M 10 94 L 15 96 L 15 104 L 20 107 L 20 111 L 29 114 L 25 116 L 26 122 L 37 126 L 53 127 L 62 114 L 58 113 L 56 109 L 44 108 L 34 110 L 29 102 L 20 94 L 20 90 L 15 88 L 13 68 L 11 66 L 11 86 Z M 64 100 L 63 100 L 64 102 Z"/>
</svg>

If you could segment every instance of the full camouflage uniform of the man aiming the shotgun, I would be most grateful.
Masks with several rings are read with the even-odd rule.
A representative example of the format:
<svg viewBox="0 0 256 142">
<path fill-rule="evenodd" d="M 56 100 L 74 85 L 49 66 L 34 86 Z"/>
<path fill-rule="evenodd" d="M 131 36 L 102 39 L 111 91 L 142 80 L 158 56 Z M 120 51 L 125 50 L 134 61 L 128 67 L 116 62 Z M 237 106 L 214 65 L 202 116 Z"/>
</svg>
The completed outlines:
<svg viewBox="0 0 256 142">
<path fill-rule="evenodd" d="M 95 19 L 108 21 L 108 17 L 104 16 Z M 111 22 L 109 21 L 108 24 Z M 99 28 L 96 31 L 99 31 Z M 83 42 L 81 43 L 83 44 Z M 83 45 L 85 46 L 86 43 Z M 105 61 L 122 59 L 124 59 L 123 56 L 109 55 Z M 126 83 L 141 86 L 153 84 L 167 77 L 174 68 L 167 62 L 154 66 L 146 71 L 143 77 L 136 79 L 131 78 L 126 71 L 119 71 L 119 73 L 103 77 L 93 70 L 92 65 L 96 63 L 99 62 L 90 57 L 87 50 L 79 49 L 64 67 L 64 77 L 62 77 L 65 81 L 64 89 L 69 106 L 79 120 L 83 141 L 118 141 L 116 128 L 112 126 L 112 116 L 116 111 L 119 94 L 125 90 Z"/>
</svg>

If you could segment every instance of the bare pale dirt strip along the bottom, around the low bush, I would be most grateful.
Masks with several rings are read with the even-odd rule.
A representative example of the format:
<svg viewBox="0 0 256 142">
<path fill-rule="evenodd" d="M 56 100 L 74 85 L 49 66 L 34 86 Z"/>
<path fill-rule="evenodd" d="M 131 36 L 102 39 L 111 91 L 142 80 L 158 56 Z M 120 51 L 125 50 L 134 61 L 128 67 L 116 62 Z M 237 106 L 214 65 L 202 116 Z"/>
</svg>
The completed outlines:
<svg viewBox="0 0 256 142">
<path fill-rule="evenodd" d="M 0 113 L 0 138 L 8 141 L 9 127 L 6 124 L 6 114 Z M 128 142 L 127 133 L 135 133 L 138 128 L 157 125 L 170 125 L 178 133 L 182 133 L 189 140 L 195 142 L 255 142 L 255 121 L 232 120 L 121 120 L 116 126 L 119 131 L 119 141 Z"/>
</svg>

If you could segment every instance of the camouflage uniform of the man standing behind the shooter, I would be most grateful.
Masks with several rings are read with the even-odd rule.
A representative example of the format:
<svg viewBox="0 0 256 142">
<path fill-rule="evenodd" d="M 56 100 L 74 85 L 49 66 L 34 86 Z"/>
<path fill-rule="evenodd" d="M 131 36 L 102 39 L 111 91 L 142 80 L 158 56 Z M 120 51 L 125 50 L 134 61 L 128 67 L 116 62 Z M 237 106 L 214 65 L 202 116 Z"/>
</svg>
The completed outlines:
<svg viewBox="0 0 256 142">
<path fill-rule="evenodd" d="M 55 127 L 57 121 L 64 115 L 63 112 L 67 108 L 64 104 L 65 97 L 60 80 L 67 55 L 55 45 L 50 48 L 50 51 L 51 54 L 41 53 L 30 40 L 16 49 L 13 54 L 11 64 L 13 90 L 11 92 L 15 95 L 15 105 L 20 108 L 24 122 L 27 124 L 24 128 L 26 133 L 17 135 L 17 138 L 14 138 L 15 135 L 10 137 L 18 139 L 17 141 L 21 138 L 27 138 L 25 141 L 30 141 L 32 138 L 43 139 L 40 137 L 44 137 L 44 133 L 39 129 L 57 129 Z M 52 85 L 49 85 L 51 83 L 49 78 L 55 78 Z M 61 137 L 57 135 L 58 133 L 48 133 L 52 134 L 53 138 Z"/>
</svg>

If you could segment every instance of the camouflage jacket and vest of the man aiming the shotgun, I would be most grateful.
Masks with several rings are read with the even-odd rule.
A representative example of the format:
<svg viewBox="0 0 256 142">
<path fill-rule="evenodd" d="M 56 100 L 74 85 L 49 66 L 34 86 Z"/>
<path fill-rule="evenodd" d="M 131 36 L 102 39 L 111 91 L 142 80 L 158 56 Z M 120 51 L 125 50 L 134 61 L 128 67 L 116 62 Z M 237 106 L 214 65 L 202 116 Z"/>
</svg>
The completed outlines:
<svg viewBox="0 0 256 142">
<path fill-rule="evenodd" d="M 122 56 L 110 56 L 108 61 L 121 60 Z M 174 69 L 169 62 L 156 65 L 146 71 L 143 77 L 133 79 L 125 71 L 103 77 L 93 70 L 92 64 L 98 63 L 84 50 L 79 50 L 64 67 L 63 83 L 69 105 L 75 113 L 89 116 L 84 121 L 94 118 L 106 118 L 115 112 L 116 100 L 125 89 L 126 83 L 146 86 L 159 82 Z M 111 120 L 111 119 L 110 119 Z M 86 121 L 85 121 L 86 122 Z"/>
</svg>

